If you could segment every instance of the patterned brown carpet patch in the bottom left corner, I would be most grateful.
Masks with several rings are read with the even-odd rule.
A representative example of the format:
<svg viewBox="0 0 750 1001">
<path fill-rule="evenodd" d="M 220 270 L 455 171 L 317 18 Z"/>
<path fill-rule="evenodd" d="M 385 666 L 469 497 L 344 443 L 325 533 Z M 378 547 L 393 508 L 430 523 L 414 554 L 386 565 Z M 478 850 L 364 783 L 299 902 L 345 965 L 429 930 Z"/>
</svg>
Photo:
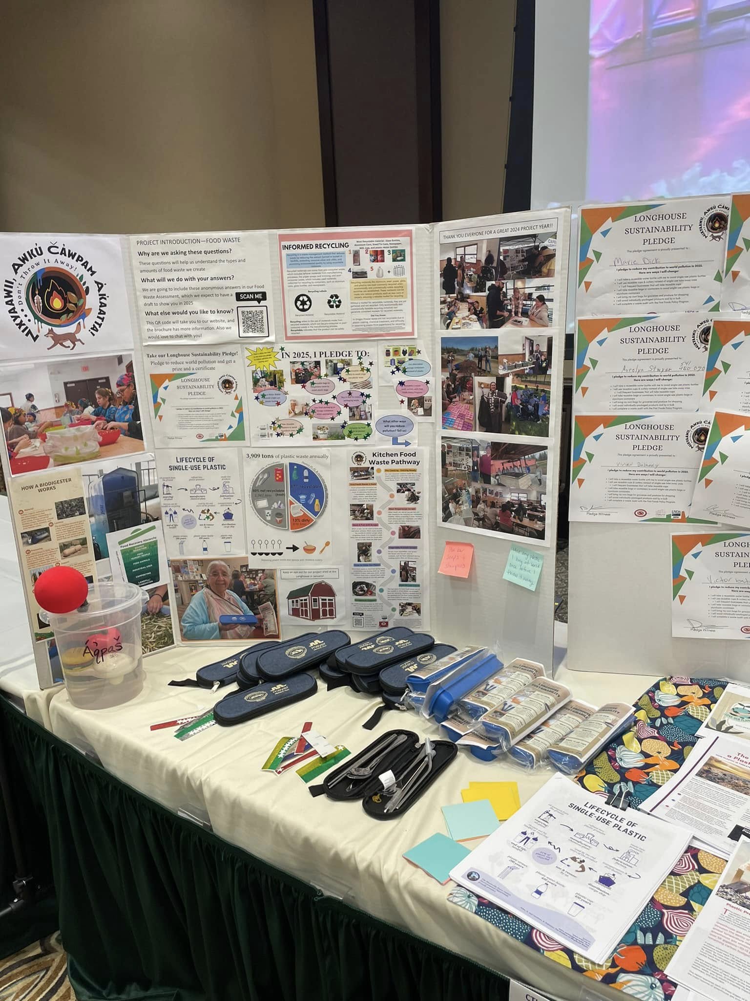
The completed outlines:
<svg viewBox="0 0 750 1001">
<path fill-rule="evenodd" d="M 0 960 L 0 1001 L 75 1001 L 59 932 Z"/>
</svg>

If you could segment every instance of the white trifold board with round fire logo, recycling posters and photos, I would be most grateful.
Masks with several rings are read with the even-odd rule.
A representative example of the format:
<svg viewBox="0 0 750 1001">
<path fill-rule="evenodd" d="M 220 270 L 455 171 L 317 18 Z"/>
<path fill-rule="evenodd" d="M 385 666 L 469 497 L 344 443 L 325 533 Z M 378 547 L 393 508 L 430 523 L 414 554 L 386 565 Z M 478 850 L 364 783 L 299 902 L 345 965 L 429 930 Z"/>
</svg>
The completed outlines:
<svg viewBox="0 0 750 1001">
<path fill-rule="evenodd" d="M 41 684 L 59 565 L 143 589 L 145 653 L 410 626 L 551 665 L 569 226 L 0 234 Z"/>
</svg>

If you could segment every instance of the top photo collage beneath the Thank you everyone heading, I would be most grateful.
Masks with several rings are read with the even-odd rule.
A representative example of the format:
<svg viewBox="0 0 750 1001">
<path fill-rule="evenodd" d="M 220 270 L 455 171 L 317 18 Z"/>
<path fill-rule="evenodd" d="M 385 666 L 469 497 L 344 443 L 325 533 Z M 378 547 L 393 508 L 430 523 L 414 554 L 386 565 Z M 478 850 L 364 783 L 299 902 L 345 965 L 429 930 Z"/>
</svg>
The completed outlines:
<svg viewBox="0 0 750 1001">
<path fill-rule="evenodd" d="M 441 243 L 441 326 L 550 326 L 556 244 L 556 233 Z"/>
</svg>

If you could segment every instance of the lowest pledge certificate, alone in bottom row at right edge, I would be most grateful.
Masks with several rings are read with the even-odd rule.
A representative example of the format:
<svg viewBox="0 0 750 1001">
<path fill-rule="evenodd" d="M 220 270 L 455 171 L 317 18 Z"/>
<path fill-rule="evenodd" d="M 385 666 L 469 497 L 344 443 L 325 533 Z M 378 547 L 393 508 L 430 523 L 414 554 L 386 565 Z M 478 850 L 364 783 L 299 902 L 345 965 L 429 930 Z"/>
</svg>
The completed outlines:
<svg viewBox="0 0 750 1001">
<path fill-rule="evenodd" d="M 747 640 L 750 534 L 672 534 L 672 636 Z"/>
</svg>

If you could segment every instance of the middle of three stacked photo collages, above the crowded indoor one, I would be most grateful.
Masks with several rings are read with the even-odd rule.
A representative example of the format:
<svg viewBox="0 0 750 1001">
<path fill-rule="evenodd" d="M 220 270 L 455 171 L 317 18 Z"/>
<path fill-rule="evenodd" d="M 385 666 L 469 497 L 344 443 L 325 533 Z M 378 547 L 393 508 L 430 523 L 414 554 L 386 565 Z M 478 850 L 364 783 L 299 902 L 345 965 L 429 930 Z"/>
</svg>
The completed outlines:
<svg viewBox="0 0 750 1001">
<path fill-rule="evenodd" d="M 552 344 L 552 337 L 521 333 L 507 338 L 444 335 L 443 428 L 547 437 Z"/>
</svg>

